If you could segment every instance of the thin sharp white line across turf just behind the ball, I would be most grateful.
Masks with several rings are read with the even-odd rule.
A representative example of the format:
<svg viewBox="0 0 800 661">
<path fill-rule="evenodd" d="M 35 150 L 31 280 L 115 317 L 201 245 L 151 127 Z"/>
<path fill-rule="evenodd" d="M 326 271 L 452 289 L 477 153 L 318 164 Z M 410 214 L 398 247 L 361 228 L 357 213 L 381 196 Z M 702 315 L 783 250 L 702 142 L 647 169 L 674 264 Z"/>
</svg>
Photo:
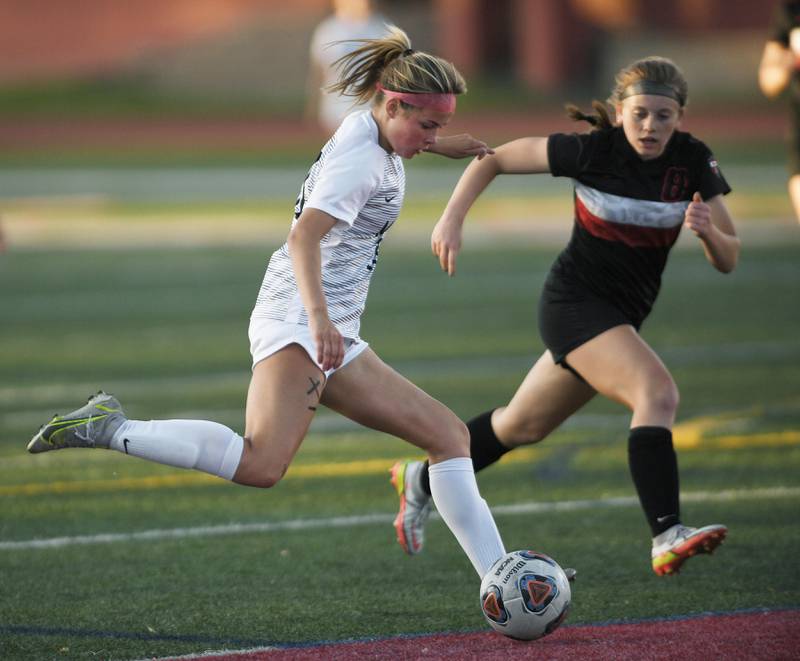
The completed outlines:
<svg viewBox="0 0 800 661">
<path fill-rule="evenodd" d="M 800 487 L 773 487 L 769 489 L 731 489 L 727 491 L 692 491 L 681 495 L 683 502 L 711 503 L 735 500 L 770 500 L 777 498 L 800 497 Z M 540 514 L 544 512 L 567 512 L 575 510 L 606 509 L 611 507 L 633 507 L 639 500 L 633 496 L 599 498 L 592 500 L 564 500 L 555 502 L 528 502 L 513 505 L 499 505 L 492 508 L 496 516 Z M 357 516 L 336 516 L 326 519 L 293 519 L 289 521 L 262 523 L 234 523 L 218 526 L 196 526 L 192 528 L 161 528 L 133 533 L 108 533 L 99 535 L 74 535 L 70 537 L 50 537 L 28 539 L 16 542 L 0 542 L 0 551 L 27 551 L 31 549 L 54 549 L 65 546 L 86 546 L 93 544 L 117 544 L 125 542 L 154 541 L 162 539 L 184 539 L 187 537 L 218 537 L 245 533 L 269 533 L 326 528 L 352 528 L 374 524 L 389 524 L 394 514 L 362 514 Z M 438 518 L 434 513 L 434 518 Z"/>
</svg>

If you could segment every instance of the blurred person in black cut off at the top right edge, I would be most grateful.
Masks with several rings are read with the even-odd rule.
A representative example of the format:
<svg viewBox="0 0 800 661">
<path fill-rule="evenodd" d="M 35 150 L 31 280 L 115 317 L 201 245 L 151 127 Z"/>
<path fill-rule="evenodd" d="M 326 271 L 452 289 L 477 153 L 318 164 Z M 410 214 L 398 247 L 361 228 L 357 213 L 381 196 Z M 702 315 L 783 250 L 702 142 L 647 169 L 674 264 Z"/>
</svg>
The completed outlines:
<svg viewBox="0 0 800 661">
<path fill-rule="evenodd" d="M 770 99 L 789 89 L 789 197 L 800 220 L 800 2 L 775 6 L 770 35 L 758 68 L 761 91 Z"/>
</svg>

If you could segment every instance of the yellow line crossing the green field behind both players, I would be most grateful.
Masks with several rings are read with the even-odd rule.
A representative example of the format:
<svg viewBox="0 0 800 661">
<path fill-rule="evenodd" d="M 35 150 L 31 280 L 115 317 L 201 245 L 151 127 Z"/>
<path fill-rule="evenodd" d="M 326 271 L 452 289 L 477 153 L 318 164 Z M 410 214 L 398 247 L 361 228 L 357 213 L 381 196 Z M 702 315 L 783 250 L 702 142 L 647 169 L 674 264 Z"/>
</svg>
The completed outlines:
<svg viewBox="0 0 800 661">
<path fill-rule="evenodd" d="M 800 430 L 778 432 L 765 432 L 759 434 L 738 434 L 703 438 L 703 431 L 712 425 L 702 421 L 690 426 L 676 426 L 675 446 L 678 449 L 696 450 L 703 448 L 736 449 L 753 446 L 784 446 L 800 445 Z M 522 447 L 510 452 L 502 459 L 503 463 L 522 463 L 535 459 L 538 455 L 546 453 L 549 447 Z M 366 461 L 348 461 L 340 463 L 297 464 L 289 469 L 286 479 L 314 479 L 325 477 L 353 477 L 358 475 L 388 474 L 393 460 L 370 459 Z M 32 482 L 27 484 L 14 484 L 0 486 L 0 496 L 36 496 L 41 494 L 70 494 L 70 493 L 97 493 L 103 491 L 135 490 L 148 491 L 153 489 L 169 489 L 193 485 L 226 484 L 224 480 L 206 473 L 185 471 L 181 473 L 168 473 L 166 475 L 151 475 L 147 477 L 126 477 L 113 480 L 75 480 L 57 482 Z"/>
</svg>

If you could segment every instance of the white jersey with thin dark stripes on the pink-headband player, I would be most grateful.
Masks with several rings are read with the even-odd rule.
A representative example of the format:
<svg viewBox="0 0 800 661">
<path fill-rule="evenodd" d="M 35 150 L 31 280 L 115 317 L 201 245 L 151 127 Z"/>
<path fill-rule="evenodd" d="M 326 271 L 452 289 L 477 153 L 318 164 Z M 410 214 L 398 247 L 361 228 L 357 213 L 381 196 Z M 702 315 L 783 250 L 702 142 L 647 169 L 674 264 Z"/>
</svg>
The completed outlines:
<svg viewBox="0 0 800 661">
<path fill-rule="evenodd" d="M 345 337 L 358 337 L 380 243 L 404 194 L 402 159 L 378 144 L 378 125 L 368 110 L 342 122 L 300 189 L 292 227 L 305 207 L 338 220 L 320 242 L 322 289 L 331 321 Z M 308 325 L 285 243 L 272 254 L 252 316 Z"/>
</svg>

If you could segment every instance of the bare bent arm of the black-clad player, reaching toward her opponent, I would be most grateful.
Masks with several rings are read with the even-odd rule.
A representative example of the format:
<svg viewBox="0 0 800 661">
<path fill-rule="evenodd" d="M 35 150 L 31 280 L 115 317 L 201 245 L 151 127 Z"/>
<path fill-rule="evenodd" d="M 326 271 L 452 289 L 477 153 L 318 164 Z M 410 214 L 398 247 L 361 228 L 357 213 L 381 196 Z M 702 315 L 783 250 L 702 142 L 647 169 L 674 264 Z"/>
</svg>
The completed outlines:
<svg viewBox="0 0 800 661">
<path fill-rule="evenodd" d="M 549 172 L 547 138 L 520 138 L 498 147 L 493 155 L 477 158 L 456 184 L 442 217 L 431 234 L 431 250 L 448 275 L 456 272 L 467 212 L 498 174 Z"/>
</svg>

